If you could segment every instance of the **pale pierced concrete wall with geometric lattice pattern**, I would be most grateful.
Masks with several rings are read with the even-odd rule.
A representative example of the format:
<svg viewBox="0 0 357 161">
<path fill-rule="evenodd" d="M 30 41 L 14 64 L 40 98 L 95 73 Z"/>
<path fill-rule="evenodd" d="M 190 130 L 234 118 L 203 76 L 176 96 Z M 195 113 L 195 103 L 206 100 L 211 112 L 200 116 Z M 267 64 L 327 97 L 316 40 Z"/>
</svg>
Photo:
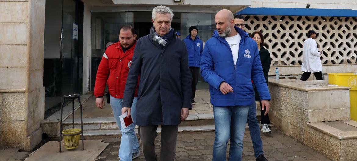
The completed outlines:
<svg viewBox="0 0 357 161">
<path fill-rule="evenodd" d="M 303 42 L 310 29 L 319 33 L 315 40 L 323 50 L 322 73 L 357 71 L 356 17 L 245 15 L 245 19 L 246 32 L 261 31 L 265 37 L 272 60 L 269 75 L 274 75 L 275 67 L 284 75 L 302 73 Z"/>
</svg>

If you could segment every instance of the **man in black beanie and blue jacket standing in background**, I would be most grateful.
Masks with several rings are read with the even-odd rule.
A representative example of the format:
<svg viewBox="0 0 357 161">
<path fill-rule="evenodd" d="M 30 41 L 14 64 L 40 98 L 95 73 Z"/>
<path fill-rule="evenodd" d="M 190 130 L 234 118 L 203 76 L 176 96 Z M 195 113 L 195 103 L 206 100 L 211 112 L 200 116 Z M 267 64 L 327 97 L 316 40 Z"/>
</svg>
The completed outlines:
<svg viewBox="0 0 357 161">
<path fill-rule="evenodd" d="M 201 55 L 203 51 L 202 40 L 197 36 L 198 28 L 191 26 L 189 29 L 190 34 L 187 35 L 183 41 L 186 43 L 188 53 L 188 66 L 190 67 L 192 85 L 191 85 L 191 104 L 196 104 L 195 93 L 198 81 L 198 73 L 200 73 Z"/>
</svg>

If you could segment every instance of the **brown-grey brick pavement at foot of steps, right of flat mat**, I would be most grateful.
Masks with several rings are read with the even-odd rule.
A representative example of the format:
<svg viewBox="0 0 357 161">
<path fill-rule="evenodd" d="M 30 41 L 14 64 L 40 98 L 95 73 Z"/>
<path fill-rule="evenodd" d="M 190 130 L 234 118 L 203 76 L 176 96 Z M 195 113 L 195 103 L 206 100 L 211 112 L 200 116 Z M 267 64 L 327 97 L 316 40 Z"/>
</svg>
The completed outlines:
<svg viewBox="0 0 357 161">
<path fill-rule="evenodd" d="M 178 133 L 176 144 L 176 161 L 211 161 L 212 149 L 215 133 L 211 132 L 183 132 Z M 295 139 L 286 136 L 280 130 L 272 128 L 272 134 L 261 133 L 263 141 L 263 151 L 269 161 L 329 161 L 327 157 L 321 155 L 310 147 L 303 145 Z M 119 160 L 118 151 L 120 145 L 119 138 L 104 139 L 109 145 L 100 154 L 99 157 L 105 157 L 102 160 Z M 159 134 L 155 139 L 155 151 L 160 156 Z M 255 161 L 252 141 L 249 131 L 246 130 L 243 139 L 243 157 L 244 161 Z M 228 143 L 229 144 L 229 143 Z M 229 145 L 227 151 L 229 150 Z M 141 150 L 140 150 L 141 151 Z M 228 157 L 228 153 L 227 153 Z M 141 151 L 141 156 L 133 161 L 145 161 Z"/>
</svg>

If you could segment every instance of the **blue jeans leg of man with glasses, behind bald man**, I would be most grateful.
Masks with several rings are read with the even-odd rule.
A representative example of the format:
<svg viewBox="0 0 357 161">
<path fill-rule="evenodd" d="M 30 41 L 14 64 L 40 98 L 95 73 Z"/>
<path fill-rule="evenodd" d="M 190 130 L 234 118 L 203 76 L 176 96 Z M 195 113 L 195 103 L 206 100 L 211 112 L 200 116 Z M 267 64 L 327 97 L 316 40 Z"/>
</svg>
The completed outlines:
<svg viewBox="0 0 357 161">
<path fill-rule="evenodd" d="M 250 137 L 252 138 L 253 149 L 254 149 L 254 156 L 257 158 L 259 155 L 263 154 L 263 143 L 262 139 L 260 138 L 260 128 L 257 119 L 257 111 L 256 111 L 256 104 L 255 104 L 255 97 L 253 97 L 254 102 L 251 106 L 249 106 L 248 111 L 248 126 Z"/>
</svg>

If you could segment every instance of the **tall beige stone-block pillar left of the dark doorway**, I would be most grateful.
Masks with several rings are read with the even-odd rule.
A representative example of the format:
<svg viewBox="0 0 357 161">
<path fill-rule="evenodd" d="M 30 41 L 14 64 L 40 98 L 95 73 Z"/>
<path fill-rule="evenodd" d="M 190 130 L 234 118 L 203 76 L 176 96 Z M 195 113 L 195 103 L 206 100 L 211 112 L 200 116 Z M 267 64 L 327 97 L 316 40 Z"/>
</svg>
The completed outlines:
<svg viewBox="0 0 357 161">
<path fill-rule="evenodd" d="M 0 147 L 42 139 L 45 0 L 0 1 Z"/>
</svg>

